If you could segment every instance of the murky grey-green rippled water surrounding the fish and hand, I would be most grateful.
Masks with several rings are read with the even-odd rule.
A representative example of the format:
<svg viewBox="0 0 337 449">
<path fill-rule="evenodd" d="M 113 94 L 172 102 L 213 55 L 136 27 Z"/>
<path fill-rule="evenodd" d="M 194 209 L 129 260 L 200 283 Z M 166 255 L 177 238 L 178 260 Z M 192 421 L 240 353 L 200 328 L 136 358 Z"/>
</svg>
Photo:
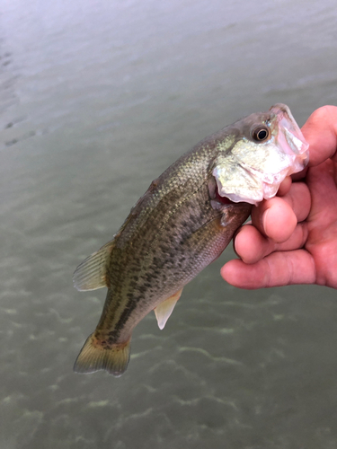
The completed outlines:
<svg viewBox="0 0 337 449">
<path fill-rule="evenodd" d="M 274 102 L 337 104 L 333 0 L 3 0 L 0 447 L 334 449 L 336 291 L 189 286 L 126 374 L 73 374 L 105 292 L 72 273 L 151 180 Z"/>
</svg>

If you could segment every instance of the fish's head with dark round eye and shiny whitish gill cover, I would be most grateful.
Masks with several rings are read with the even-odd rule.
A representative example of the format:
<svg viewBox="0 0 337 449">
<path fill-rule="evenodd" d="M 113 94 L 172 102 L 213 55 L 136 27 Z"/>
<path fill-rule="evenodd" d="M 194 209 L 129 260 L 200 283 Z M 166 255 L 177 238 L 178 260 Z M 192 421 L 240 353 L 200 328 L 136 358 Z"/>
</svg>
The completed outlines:
<svg viewBox="0 0 337 449">
<path fill-rule="evenodd" d="M 308 144 L 288 106 L 275 104 L 226 128 L 212 174 L 221 197 L 256 205 L 309 161 Z"/>
</svg>

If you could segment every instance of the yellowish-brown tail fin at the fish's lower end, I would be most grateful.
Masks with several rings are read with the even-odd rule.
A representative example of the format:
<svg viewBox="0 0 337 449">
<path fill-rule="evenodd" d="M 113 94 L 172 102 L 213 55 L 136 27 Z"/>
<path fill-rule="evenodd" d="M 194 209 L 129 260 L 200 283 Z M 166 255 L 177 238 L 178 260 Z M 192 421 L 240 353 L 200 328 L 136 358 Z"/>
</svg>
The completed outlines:
<svg viewBox="0 0 337 449">
<path fill-rule="evenodd" d="M 74 371 L 78 374 L 90 374 L 105 369 L 109 374 L 120 377 L 128 367 L 129 357 L 130 339 L 105 347 L 91 334 L 76 358 Z"/>
</svg>

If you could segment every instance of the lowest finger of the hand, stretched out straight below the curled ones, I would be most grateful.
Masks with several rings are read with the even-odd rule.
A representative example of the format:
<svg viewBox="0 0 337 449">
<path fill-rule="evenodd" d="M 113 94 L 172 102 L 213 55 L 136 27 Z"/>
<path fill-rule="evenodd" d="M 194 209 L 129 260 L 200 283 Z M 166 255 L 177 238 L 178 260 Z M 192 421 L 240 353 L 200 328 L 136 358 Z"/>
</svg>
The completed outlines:
<svg viewBox="0 0 337 449">
<path fill-rule="evenodd" d="M 316 282 L 315 262 L 306 250 L 273 252 L 253 265 L 230 260 L 221 276 L 232 286 L 246 289 Z"/>
</svg>

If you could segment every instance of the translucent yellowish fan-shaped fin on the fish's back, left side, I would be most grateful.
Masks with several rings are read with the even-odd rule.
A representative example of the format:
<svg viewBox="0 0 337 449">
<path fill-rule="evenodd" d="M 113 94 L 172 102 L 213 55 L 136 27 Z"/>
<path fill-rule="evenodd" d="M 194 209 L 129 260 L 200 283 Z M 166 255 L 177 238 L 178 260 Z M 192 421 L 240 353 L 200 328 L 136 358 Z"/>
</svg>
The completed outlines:
<svg viewBox="0 0 337 449">
<path fill-rule="evenodd" d="M 75 269 L 73 276 L 74 286 L 80 292 L 84 290 L 97 290 L 107 286 L 106 272 L 109 257 L 113 248 L 114 242 L 106 243 L 99 251 L 87 257 Z"/>
</svg>

